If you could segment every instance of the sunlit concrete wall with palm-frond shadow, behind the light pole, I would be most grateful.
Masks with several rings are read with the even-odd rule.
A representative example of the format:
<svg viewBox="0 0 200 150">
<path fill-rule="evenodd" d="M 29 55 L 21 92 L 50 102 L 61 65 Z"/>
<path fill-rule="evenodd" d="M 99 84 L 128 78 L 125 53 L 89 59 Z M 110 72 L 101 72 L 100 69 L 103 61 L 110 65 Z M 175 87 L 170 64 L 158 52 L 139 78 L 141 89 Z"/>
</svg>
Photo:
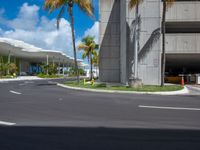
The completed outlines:
<svg viewBox="0 0 200 150">
<path fill-rule="evenodd" d="M 127 1 L 129 2 L 129 1 Z M 139 38 L 139 70 L 138 74 L 144 84 L 160 84 L 161 40 L 160 40 L 160 1 L 144 0 L 139 5 L 140 38 Z M 128 4 L 127 4 L 128 8 Z M 134 19 L 135 10 L 128 10 L 127 23 L 129 26 L 129 64 L 133 66 L 134 56 Z M 131 40 L 132 39 L 132 40 Z M 130 68 L 134 70 L 134 68 Z M 129 70 L 130 76 L 131 70 Z"/>
</svg>

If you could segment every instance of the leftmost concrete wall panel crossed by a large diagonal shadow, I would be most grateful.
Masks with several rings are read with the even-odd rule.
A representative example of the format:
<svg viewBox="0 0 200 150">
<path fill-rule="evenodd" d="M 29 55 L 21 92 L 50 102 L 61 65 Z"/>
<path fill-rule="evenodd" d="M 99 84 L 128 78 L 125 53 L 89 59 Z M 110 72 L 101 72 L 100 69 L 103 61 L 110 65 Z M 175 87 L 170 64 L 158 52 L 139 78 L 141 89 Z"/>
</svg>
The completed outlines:
<svg viewBox="0 0 200 150">
<path fill-rule="evenodd" d="M 100 80 L 120 82 L 120 0 L 100 0 Z"/>
</svg>

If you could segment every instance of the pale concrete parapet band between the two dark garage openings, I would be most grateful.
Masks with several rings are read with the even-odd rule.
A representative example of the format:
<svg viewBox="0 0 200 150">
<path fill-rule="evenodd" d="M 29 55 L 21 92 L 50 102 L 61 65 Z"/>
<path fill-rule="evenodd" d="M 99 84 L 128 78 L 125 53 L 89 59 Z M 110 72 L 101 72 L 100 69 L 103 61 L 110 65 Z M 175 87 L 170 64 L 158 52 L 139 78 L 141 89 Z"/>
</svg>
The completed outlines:
<svg viewBox="0 0 200 150">
<path fill-rule="evenodd" d="M 200 34 L 167 34 L 166 53 L 184 54 L 200 53 Z"/>
</svg>

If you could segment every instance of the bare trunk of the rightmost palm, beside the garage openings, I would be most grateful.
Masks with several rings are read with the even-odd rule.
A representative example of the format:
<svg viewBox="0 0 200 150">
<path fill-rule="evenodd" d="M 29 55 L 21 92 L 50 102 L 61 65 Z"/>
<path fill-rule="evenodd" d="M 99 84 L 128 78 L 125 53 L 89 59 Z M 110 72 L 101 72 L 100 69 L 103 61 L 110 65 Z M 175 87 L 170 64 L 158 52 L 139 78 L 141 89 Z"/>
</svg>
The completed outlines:
<svg viewBox="0 0 200 150">
<path fill-rule="evenodd" d="M 165 83 L 165 19 L 166 19 L 166 0 L 163 0 L 163 15 L 162 15 L 162 58 L 161 58 L 161 86 Z"/>
</svg>

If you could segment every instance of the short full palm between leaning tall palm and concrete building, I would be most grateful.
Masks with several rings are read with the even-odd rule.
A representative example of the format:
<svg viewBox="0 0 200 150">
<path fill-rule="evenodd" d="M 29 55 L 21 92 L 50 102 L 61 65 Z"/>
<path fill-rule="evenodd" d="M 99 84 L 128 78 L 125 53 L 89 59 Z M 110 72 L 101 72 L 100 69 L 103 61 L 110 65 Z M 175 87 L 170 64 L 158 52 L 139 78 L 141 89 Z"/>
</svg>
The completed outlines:
<svg viewBox="0 0 200 150">
<path fill-rule="evenodd" d="M 79 44 L 78 49 L 83 50 L 83 59 L 87 58 L 90 63 L 90 80 L 93 79 L 93 60 L 94 56 L 97 55 L 95 51 L 98 48 L 98 45 L 94 41 L 94 37 L 86 36 L 82 39 L 82 43 Z"/>
</svg>

